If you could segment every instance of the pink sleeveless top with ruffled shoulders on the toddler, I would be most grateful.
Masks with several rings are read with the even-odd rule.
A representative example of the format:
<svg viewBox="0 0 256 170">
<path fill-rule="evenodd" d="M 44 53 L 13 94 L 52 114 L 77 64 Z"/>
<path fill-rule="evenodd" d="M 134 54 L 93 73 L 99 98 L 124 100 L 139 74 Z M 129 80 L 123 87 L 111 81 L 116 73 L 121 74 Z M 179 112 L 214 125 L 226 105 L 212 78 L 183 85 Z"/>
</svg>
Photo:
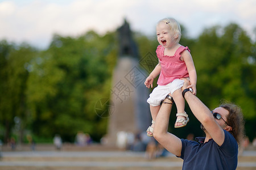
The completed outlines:
<svg viewBox="0 0 256 170">
<path fill-rule="evenodd" d="M 156 48 L 156 56 L 159 58 L 161 64 L 161 71 L 158 78 L 158 85 L 164 86 L 171 83 L 175 79 L 188 77 L 188 69 L 184 61 L 180 60 L 181 53 L 184 50 L 190 50 L 188 47 L 180 46 L 174 56 L 164 56 L 164 47 L 158 45 Z"/>
</svg>

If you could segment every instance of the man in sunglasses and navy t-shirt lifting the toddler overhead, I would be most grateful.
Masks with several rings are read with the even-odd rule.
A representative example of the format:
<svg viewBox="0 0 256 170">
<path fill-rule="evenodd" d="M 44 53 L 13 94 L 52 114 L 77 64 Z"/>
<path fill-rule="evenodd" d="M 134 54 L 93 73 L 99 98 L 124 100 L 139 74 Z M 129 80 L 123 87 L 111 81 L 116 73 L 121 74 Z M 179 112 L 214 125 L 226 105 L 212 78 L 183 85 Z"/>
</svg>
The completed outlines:
<svg viewBox="0 0 256 170">
<path fill-rule="evenodd" d="M 181 88 L 192 113 L 201 122 L 205 138 L 199 142 L 180 139 L 168 133 L 172 99 L 165 99 L 155 120 L 154 137 L 168 151 L 183 159 L 183 169 L 236 169 L 238 144 L 243 137 L 241 109 L 225 104 L 212 112 L 188 90 L 184 79 Z"/>
</svg>

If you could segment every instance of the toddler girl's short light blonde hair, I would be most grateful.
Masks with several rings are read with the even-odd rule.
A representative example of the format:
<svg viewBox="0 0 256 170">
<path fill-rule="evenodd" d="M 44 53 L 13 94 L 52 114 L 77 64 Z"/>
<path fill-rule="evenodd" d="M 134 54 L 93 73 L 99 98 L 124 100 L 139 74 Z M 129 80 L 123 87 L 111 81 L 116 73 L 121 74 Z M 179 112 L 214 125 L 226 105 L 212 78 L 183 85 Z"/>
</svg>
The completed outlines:
<svg viewBox="0 0 256 170">
<path fill-rule="evenodd" d="M 180 24 L 176 21 L 176 19 L 174 19 L 174 18 L 164 18 L 164 19 L 159 20 L 158 24 L 160 22 L 164 22 L 164 23 L 170 25 L 171 31 L 173 31 L 175 35 L 176 34 L 178 35 L 178 37 L 177 37 L 177 43 L 178 43 L 180 41 L 180 38 L 181 38 L 181 29 L 180 29 Z"/>
</svg>

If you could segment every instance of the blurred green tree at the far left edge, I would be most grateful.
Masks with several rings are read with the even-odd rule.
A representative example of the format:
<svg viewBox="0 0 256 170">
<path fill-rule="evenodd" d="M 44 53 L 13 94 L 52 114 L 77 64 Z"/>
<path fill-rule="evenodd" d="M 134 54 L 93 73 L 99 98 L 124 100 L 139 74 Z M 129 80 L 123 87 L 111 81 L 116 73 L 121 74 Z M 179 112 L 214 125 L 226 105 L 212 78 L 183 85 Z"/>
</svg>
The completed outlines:
<svg viewBox="0 0 256 170">
<path fill-rule="evenodd" d="M 28 62 L 38 52 L 27 44 L 16 46 L 3 40 L 0 42 L 0 120 L 5 131 L 4 141 L 11 136 L 16 121 L 18 142 L 22 141 L 25 126 L 28 124 L 26 106 L 26 83 Z"/>
</svg>

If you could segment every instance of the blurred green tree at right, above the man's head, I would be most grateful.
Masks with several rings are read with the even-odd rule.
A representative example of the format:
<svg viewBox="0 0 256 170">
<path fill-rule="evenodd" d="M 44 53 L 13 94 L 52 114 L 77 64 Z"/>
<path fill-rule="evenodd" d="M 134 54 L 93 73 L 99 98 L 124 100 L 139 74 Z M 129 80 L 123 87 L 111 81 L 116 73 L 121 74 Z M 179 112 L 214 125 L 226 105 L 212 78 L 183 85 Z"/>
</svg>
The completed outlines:
<svg viewBox="0 0 256 170">
<path fill-rule="evenodd" d="M 255 61 L 255 44 L 246 32 L 237 24 L 205 29 L 192 52 L 198 76 L 197 96 L 209 108 L 216 107 L 221 99 L 236 103 L 246 121 L 255 122 L 256 67 L 250 62 Z M 252 137 L 255 130 L 248 125 L 246 133 Z"/>
</svg>

